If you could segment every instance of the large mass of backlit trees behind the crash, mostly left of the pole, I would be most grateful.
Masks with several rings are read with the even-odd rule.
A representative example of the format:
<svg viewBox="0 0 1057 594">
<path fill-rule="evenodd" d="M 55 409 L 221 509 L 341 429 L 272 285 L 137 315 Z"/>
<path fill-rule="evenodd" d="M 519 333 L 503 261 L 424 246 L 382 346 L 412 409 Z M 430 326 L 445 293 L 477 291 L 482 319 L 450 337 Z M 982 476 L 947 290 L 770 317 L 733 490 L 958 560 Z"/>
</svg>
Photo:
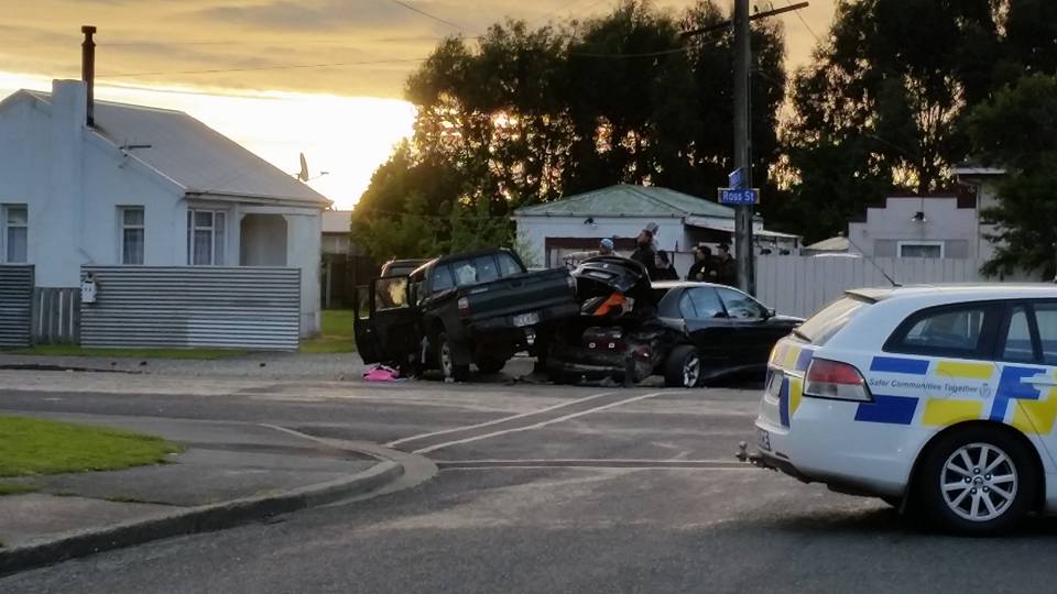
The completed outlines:
<svg viewBox="0 0 1057 594">
<path fill-rule="evenodd" d="M 509 244 L 514 209 L 619 183 L 712 196 L 732 168 L 730 34 L 680 31 L 723 19 L 710 0 L 678 21 L 626 1 L 584 23 L 508 21 L 476 42 L 443 41 L 407 80 L 414 135 L 357 205 L 357 240 L 381 258 Z M 781 25 L 754 26 L 753 37 L 755 182 L 767 188 L 780 153 Z"/>
</svg>

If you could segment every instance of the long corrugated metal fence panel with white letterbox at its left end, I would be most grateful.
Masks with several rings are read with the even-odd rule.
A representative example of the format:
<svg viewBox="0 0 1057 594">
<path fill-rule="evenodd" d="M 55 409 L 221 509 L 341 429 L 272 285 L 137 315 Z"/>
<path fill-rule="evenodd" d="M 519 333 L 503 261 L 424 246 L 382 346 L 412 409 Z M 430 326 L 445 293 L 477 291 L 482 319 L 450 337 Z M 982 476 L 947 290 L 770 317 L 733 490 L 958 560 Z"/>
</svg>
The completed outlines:
<svg viewBox="0 0 1057 594">
<path fill-rule="evenodd" d="M 221 346 L 293 351 L 301 270 L 84 266 L 96 302 L 80 306 L 85 346 Z"/>
</svg>

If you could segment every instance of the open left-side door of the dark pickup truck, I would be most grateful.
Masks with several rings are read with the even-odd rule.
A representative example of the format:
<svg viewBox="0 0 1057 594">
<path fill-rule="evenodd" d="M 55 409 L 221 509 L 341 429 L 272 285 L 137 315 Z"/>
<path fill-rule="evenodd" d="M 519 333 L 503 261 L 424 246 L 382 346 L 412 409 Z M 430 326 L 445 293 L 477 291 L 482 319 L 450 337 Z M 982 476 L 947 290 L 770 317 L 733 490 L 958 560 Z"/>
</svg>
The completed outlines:
<svg viewBox="0 0 1057 594">
<path fill-rule="evenodd" d="M 371 282 L 367 316 L 356 316 L 356 343 L 364 363 L 404 363 L 417 352 L 417 314 L 411 304 L 406 276 L 383 276 Z M 362 304 L 358 298 L 357 304 Z"/>
</svg>

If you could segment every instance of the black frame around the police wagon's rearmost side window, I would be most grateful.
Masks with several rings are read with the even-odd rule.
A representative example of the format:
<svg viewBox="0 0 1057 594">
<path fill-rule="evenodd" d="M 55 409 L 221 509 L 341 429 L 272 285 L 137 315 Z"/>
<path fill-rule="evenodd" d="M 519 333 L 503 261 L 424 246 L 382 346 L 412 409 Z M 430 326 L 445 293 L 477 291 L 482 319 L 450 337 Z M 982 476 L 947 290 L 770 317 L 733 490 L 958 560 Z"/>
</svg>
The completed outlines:
<svg viewBox="0 0 1057 594">
<path fill-rule="evenodd" d="M 956 312 L 968 309 L 982 309 L 983 323 L 980 327 L 980 341 L 974 350 L 969 349 L 949 349 L 933 346 L 907 345 L 903 341 L 909 331 L 917 323 L 926 318 L 939 315 Z M 895 327 L 895 330 L 885 339 L 881 348 L 886 353 L 912 354 L 919 356 L 942 356 L 947 359 L 966 359 L 976 361 L 994 361 L 995 350 L 999 343 L 999 329 L 1002 327 L 1006 314 L 1005 301 L 959 301 L 955 304 L 944 304 L 939 306 L 924 307 L 909 314 Z M 1033 316 L 1034 318 L 1034 316 Z M 1002 339 L 1002 345 L 1005 345 L 1005 339 Z"/>
</svg>

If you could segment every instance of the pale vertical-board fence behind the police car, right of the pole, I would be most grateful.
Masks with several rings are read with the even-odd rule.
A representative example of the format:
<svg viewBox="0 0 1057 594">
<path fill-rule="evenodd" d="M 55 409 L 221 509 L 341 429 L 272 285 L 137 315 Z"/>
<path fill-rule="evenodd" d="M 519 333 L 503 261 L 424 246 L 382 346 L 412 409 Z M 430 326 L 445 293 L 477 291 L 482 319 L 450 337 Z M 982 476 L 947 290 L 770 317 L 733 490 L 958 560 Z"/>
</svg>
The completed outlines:
<svg viewBox="0 0 1057 594">
<path fill-rule="evenodd" d="M 998 282 L 980 274 L 982 261 L 969 258 L 758 256 L 756 296 L 787 316 L 808 317 L 843 294 L 887 287 L 883 268 L 901 285 Z M 1037 280 L 1027 274 L 1004 280 Z"/>
</svg>

